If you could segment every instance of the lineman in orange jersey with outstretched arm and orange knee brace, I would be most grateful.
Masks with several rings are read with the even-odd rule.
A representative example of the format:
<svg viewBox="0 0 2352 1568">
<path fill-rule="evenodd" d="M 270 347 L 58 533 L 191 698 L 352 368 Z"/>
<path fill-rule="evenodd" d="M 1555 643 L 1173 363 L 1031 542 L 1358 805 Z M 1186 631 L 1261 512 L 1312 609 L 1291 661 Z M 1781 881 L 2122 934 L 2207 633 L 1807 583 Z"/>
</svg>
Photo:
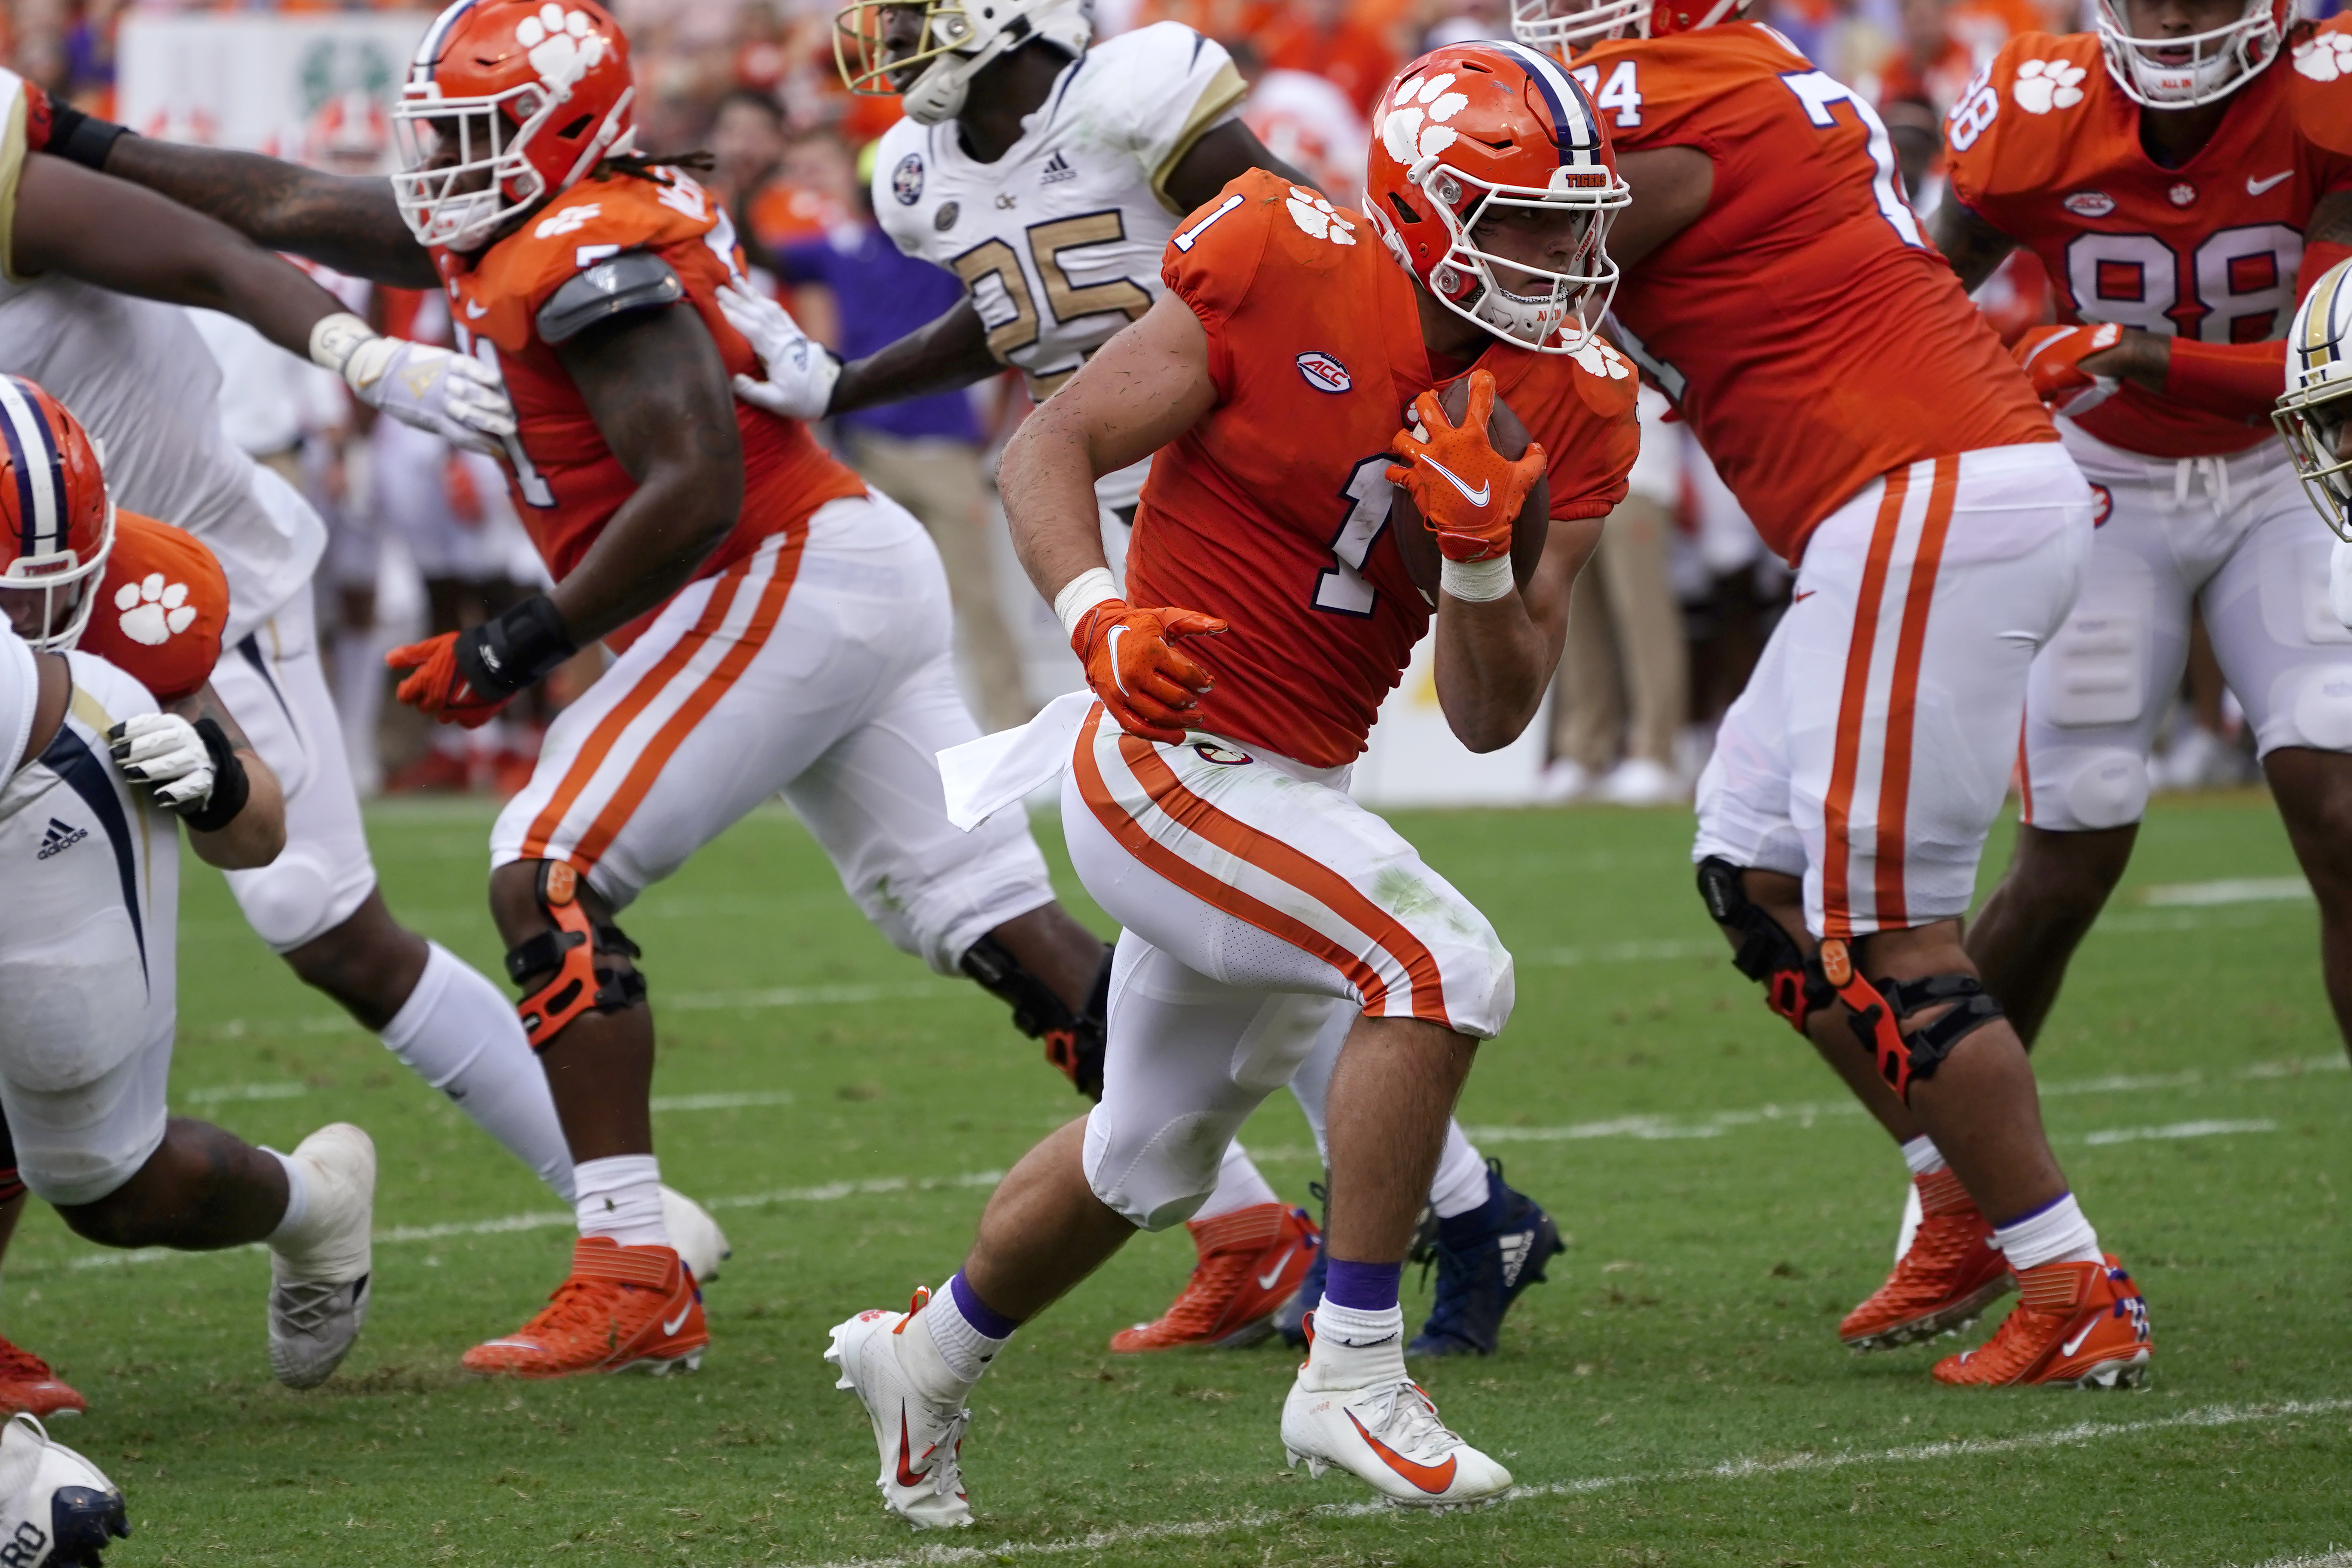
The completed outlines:
<svg viewBox="0 0 2352 1568">
<path fill-rule="evenodd" d="M 746 811 L 783 792 L 868 919 L 941 973 L 990 938 L 1075 1016 L 1101 954 L 1018 811 L 948 823 L 936 752 L 978 731 L 938 552 L 804 425 L 736 402 L 757 362 L 717 308 L 741 282 L 731 226 L 635 155 L 633 96 L 588 0 L 459 0 L 393 110 L 390 183 L 122 139 L 136 179 L 266 244 L 442 287 L 503 367 L 515 505 L 557 585 L 397 649 L 402 701 L 477 724 L 579 646 L 619 651 L 492 830 L 492 917 L 581 1225 L 548 1307 L 466 1354 L 520 1378 L 701 1361 L 652 1140 L 654 1016 L 614 919 Z"/>
</svg>

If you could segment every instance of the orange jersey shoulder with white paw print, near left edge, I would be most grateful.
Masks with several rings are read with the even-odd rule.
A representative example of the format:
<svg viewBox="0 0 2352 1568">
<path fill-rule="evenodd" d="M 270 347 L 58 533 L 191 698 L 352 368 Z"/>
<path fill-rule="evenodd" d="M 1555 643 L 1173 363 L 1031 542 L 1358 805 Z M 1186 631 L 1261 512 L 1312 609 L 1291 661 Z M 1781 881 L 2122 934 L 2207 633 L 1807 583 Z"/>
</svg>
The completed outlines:
<svg viewBox="0 0 2352 1568">
<path fill-rule="evenodd" d="M 228 578 L 195 534 L 115 510 L 115 548 L 75 644 L 132 675 L 158 703 L 212 679 L 228 625 Z"/>
</svg>

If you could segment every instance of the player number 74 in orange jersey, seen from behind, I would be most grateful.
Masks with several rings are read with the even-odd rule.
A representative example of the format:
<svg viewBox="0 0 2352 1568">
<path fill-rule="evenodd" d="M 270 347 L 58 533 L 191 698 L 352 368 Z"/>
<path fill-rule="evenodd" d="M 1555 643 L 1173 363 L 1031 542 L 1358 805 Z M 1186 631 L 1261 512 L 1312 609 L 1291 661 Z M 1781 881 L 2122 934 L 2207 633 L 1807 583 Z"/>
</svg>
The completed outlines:
<svg viewBox="0 0 2352 1568">
<path fill-rule="evenodd" d="M 1797 569 L 1698 785 L 1698 889 L 1740 971 L 1900 1140 L 1936 1227 L 1839 1335 L 1940 1333 L 2016 1274 L 2018 1309 L 1940 1382 L 2131 1382 L 2145 1309 L 1959 936 L 2091 489 L 1919 233 L 1877 110 L 1736 12 L 1515 16 L 1571 52 L 1635 190 L 1611 240 L 1628 353 Z"/>
</svg>

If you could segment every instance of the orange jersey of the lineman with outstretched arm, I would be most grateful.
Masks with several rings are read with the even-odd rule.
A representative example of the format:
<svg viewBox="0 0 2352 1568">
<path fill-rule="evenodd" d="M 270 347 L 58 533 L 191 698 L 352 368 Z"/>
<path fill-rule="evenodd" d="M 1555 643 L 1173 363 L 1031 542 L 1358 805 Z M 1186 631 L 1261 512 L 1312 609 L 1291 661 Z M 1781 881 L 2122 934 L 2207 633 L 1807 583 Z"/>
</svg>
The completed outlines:
<svg viewBox="0 0 2352 1568">
<path fill-rule="evenodd" d="M 717 306 L 720 284 L 741 277 L 734 223 L 684 174 L 583 179 L 470 268 L 463 256 L 433 252 L 461 343 L 473 353 L 477 343 L 496 348 L 522 428 L 524 461 L 508 480 L 515 510 L 557 581 L 588 555 L 637 482 L 595 428 L 555 350 L 539 339 L 539 308 L 574 275 L 628 249 L 654 252 L 677 273 L 727 374 L 760 374 L 750 343 Z M 743 517 L 699 576 L 724 571 L 771 534 L 807 531 L 809 512 L 826 501 L 866 494 L 863 480 L 833 461 L 807 425 L 748 402 L 736 402 L 734 416 L 743 437 Z"/>
</svg>

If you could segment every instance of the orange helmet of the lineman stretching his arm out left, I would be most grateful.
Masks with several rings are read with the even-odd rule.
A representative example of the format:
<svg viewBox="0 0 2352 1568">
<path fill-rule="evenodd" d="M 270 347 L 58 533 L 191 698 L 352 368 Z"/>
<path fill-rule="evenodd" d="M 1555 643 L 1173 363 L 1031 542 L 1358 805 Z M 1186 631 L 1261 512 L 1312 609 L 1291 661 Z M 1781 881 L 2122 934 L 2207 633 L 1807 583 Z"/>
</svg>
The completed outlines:
<svg viewBox="0 0 2352 1568">
<path fill-rule="evenodd" d="M 419 244 L 468 252 L 600 158 L 635 150 L 628 40 L 595 0 L 456 0 L 393 106 L 393 195 Z"/>
</svg>

